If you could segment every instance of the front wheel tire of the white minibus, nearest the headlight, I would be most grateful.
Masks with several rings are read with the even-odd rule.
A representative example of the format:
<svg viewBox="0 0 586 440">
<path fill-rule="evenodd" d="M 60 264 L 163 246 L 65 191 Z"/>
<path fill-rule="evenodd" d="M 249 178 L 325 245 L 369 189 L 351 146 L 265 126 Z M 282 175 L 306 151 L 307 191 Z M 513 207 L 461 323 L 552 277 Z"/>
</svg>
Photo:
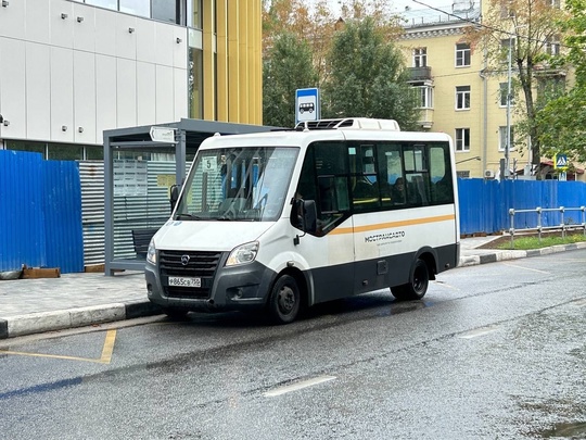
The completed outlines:
<svg viewBox="0 0 586 440">
<path fill-rule="evenodd" d="M 269 316 L 275 324 L 289 324 L 300 313 L 301 293 L 297 281 L 291 275 L 281 275 L 270 290 Z"/>
</svg>

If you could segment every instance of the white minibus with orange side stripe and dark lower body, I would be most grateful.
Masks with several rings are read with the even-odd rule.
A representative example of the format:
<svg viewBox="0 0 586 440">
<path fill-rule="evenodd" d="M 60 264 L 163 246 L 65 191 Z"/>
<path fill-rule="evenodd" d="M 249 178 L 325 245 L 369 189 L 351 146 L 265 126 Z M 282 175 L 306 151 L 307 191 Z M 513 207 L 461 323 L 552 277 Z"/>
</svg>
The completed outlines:
<svg viewBox="0 0 586 440">
<path fill-rule="evenodd" d="M 171 317 L 265 309 L 285 324 L 378 289 L 419 300 L 458 264 L 451 139 L 394 121 L 209 137 L 171 202 L 145 264 L 148 297 Z"/>
</svg>

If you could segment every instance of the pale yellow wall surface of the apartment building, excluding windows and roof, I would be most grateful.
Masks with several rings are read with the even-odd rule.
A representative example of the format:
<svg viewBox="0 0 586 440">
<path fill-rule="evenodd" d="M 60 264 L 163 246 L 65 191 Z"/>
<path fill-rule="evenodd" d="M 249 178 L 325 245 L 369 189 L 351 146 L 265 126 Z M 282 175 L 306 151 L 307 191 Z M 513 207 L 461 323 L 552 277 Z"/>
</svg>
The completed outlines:
<svg viewBox="0 0 586 440">
<path fill-rule="evenodd" d="M 456 152 L 457 168 L 470 172 L 470 177 L 484 177 L 485 171 L 498 174 L 499 161 L 505 158 L 505 152 L 499 151 L 499 126 L 507 125 L 507 111 L 499 105 L 499 83 L 506 83 L 507 75 L 505 72 L 502 77 L 484 79 L 481 50 L 472 51 L 470 66 L 456 67 L 456 45 L 462 37 L 461 28 L 455 26 L 425 26 L 407 29 L 399 45 L 409 67 L 413 66 L 412 49 L 426 48 L 434 90 L 433 111 L 429 112 L 433 115 L 431 131 L 447 133 L 455 139 L 456 128 L 470 128 L 470 151 Z M 458 86 L 470 86 L 470 110 L 456 110 Z M 513 120 L 511 124 L 514 125 Z M 513 159 L 518 161 L 518 168 L 524 167 L 530 161 L 527 149 L 523 156 L 511 151 L 511 167 Z"/>
</svg>

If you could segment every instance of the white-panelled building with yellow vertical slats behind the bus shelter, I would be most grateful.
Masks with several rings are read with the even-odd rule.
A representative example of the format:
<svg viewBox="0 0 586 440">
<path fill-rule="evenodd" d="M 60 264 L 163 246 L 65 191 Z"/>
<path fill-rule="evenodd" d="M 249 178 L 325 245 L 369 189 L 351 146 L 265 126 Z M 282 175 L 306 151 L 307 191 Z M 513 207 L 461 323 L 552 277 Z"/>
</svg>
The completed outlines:
<svg viewBox="0 0 586 440">
<path fill-rule="evenodd" d="M 2 0 L 0 149 L 103 158 L 103 130 L 262 124 L 260 0 Z"/>
</svg>

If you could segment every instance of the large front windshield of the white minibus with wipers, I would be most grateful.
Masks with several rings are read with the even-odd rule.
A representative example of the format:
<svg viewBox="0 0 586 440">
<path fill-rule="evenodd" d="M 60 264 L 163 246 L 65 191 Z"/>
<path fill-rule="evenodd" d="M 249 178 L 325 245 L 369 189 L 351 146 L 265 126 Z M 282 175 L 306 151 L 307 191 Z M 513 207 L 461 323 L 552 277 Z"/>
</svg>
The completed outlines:
<svg viewBox="0 0 586 440">
<path fill-rule="evenodd" d="M 243 147 L 198 152 L 175 219 L 276 221 L 285 204 L 297 148 Z"/>
</svg>

